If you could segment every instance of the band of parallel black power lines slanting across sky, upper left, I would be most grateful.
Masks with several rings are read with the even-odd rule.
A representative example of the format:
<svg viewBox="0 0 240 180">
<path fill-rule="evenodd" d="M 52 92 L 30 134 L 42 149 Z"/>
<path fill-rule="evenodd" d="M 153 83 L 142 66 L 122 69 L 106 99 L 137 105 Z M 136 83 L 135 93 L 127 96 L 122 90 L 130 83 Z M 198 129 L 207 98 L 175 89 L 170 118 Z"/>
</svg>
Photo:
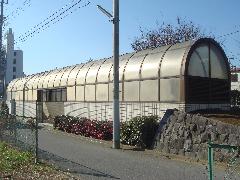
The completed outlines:
<svg viewBox="0 0 240 180">
<path fill-rule="evenodd" d="M 18 42 L 25 42 L 28 38 L 35 36 L 36 34 L 39 34 L 40 32 L 44 31 L 45 29 L 49 28 L 51 25 L 56 24 L 57 22 L 61 21 L 62 19 L 66 18 L 76 10 L 86 7 L 90 4 L 88 1 L 84 5 L 80 6 L 79 3 L 82 0 L 78 0 L 74 3 L 75 0 L 73 0 L 71 3 L 63 6 L 59 10 L 55 11 L 53 14 L 51 14 L 49 17 L 44 19 L 42 22 L 35 25 L 33 28 L 28 30 L 23 35 L 20 35 L 18 37 L 18 40 L 15 43 Z M 77 7 L 76 7 L 77 6 Z M 74 9 L 75 8 L 75 9 Z"/>
</svg>

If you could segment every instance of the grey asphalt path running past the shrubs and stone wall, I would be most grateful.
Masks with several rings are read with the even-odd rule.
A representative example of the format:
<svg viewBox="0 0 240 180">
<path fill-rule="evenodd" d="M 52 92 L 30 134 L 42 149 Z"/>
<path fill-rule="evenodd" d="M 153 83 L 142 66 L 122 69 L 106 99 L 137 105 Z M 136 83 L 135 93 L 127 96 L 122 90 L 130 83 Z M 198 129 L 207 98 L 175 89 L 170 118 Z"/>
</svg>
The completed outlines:
<svg viewBox="0 0 240 180">
<path fill-rule="evenodd" d="M 49 130 L 39 131 L 40 154 L 81 179 L 203 180 L 206 165 L 170 160 L 154 153 L 114 150 L 110 145 Z M 216 179 L 223 179 L 218 173 Z"/>
</svg>

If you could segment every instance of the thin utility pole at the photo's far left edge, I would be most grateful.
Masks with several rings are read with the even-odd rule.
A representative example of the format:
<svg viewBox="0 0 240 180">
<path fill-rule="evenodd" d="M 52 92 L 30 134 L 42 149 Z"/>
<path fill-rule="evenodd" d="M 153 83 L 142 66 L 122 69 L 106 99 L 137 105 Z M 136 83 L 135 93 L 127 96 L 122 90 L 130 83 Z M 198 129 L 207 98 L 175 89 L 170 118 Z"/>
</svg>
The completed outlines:
<svg viewBox="0 0 240 180">
<path fill-rule="evenodd" d="M 3 16 L 3 6 L 4 4 L 8 4 L 7 2 L 4 2 L 4 0 L 1 1 L 1 15 L 0 15 L 0 66 L 1 66 L 1 84 L 2 84 L 2 90 L 3 90 L 3 97 L 5 98 L 5 63 L 4 63 L 4 52 L 3 52 L 3 22 L 4 22 L 4 16 Z"/>
</svg>

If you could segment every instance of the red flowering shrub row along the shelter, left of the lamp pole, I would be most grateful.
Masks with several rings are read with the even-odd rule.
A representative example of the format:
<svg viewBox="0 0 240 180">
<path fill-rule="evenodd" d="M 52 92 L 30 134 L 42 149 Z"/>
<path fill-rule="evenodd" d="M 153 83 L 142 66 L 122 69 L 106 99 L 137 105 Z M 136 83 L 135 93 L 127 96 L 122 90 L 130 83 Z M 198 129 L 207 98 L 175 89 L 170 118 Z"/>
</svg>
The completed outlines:
<svg viewBox="0 0 240 180">
<path fill-rule="evenodd" d="M 102 140 L 112 140 L 112 121 L 96 121 L 71 116 L 56 116 L 54 128 L 77 135 Z"/>
</svg>

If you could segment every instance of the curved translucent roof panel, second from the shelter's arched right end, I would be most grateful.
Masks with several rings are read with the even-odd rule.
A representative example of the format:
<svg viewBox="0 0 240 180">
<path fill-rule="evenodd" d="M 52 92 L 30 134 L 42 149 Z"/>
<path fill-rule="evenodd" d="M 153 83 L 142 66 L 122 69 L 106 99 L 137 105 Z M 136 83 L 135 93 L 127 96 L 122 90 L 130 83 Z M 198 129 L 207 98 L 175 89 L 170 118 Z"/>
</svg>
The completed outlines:
<svg viewBox="0 0 240 180">
<path fill-rule="evenodd" d="M 142 78 L 158 77 L 158 70 L 159 70 L 161 58 L 169 47 L 170 46 L 163 46 L 163 47 L 154 49 L 151 54 L 147 55 L 141 69 Z"/>
</svg>

